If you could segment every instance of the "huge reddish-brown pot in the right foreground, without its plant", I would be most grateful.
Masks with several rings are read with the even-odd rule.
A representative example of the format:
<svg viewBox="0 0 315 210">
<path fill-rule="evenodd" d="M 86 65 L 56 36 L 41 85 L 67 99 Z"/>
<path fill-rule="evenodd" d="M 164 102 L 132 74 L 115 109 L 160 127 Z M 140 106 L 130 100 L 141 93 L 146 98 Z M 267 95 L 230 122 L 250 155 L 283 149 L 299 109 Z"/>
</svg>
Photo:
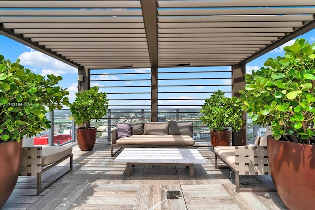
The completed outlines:
<svg viewBox="0 0 315 210">
<path fill-rule="evenodd" d="M 290 210 L 315 208 L 315 145 L 267 136 L 268 163 L 275 188 Z"/>
</svg>

